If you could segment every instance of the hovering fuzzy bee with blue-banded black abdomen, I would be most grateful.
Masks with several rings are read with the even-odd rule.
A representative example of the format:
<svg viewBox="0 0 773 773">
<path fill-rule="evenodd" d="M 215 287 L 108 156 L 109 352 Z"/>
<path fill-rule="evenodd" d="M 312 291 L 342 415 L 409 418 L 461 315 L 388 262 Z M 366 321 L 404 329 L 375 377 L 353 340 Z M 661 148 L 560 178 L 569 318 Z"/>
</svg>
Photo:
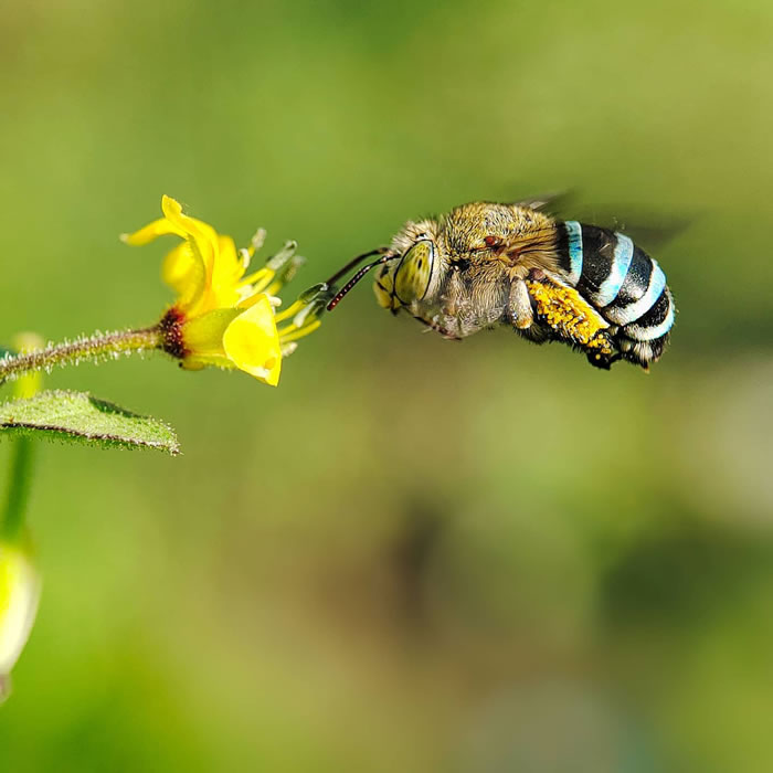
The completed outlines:
<svg viewBox="0 0 773 773">
<path fill-rule="evenodd" d="M 648 369 L 668 342 L 676 307 L 657 261 L 623 233 L 541 211 L 544 202 L 474 202 L 409 221 L 389 247 L 360 255 L 333 275 L 332 310 L 378 267 L 380 306 L 406 311 L 445 338 L 504 325 L 546 343 L 560 341 L 608 370 L 617 360 Z"/>
</svg>

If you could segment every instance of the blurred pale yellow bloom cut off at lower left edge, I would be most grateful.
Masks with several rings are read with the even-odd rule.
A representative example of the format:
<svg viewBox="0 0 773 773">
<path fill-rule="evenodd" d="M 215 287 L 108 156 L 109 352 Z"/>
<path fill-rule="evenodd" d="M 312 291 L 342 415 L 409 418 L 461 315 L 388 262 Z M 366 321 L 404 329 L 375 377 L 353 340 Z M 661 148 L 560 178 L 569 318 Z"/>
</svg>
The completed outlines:
<svg viewBox="0 0 773 773">
<path fill-rule="evenodd" d="M 15 541 L 0 541 L 0 701 L 38 612 L 40 578 Z"/>
</svg>

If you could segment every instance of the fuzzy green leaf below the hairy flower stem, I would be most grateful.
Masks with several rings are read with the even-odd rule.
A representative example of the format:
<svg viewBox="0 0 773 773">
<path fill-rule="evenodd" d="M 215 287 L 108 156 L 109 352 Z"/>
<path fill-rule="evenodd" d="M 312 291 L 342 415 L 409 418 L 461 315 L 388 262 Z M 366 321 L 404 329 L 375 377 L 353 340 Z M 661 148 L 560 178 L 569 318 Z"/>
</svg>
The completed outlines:
<svg viewBox="0 0 773 773">
<path fill-rule="evenodd" d="M 103 448 L 157 448 L 176 455 L 174 431 L 87 392 L 40 392 L 29 400 L 0 405 L 0 437 L 47 437 Z"/>
</svg>

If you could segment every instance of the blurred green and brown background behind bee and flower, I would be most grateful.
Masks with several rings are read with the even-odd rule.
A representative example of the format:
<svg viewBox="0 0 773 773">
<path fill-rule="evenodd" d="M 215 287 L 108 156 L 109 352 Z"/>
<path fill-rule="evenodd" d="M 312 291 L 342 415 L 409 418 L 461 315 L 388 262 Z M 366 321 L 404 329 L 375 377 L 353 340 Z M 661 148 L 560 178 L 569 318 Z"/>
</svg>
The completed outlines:
<svg viewBox="0 0 773 773">
<path fill-rule="evenodd" d="M 3 340 L 153 321 L 162 193 L 297 290 L 477 198 L 690 223 L 649 375 L 364 285 L 278 390 L 52 374 L 184 455 L 41 448 L 0 770 L 773 769 L 770 3 L 12 0 L 0 100 Z"/>
</svg>

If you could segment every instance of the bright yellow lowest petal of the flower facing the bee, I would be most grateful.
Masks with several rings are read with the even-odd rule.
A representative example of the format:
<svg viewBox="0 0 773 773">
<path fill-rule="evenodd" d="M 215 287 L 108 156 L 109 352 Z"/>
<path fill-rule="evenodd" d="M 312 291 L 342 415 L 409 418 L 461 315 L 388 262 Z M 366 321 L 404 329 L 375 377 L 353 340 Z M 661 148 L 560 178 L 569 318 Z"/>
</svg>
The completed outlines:
<svg viewBox="0 0 773 773">
<path fill-rule="evenodd" d="M 276 386 L 282 370 L 282 347 L 268 296 L 264 295 L 229 325 L 223 348 L 240 370 Z"/>
</svg>

